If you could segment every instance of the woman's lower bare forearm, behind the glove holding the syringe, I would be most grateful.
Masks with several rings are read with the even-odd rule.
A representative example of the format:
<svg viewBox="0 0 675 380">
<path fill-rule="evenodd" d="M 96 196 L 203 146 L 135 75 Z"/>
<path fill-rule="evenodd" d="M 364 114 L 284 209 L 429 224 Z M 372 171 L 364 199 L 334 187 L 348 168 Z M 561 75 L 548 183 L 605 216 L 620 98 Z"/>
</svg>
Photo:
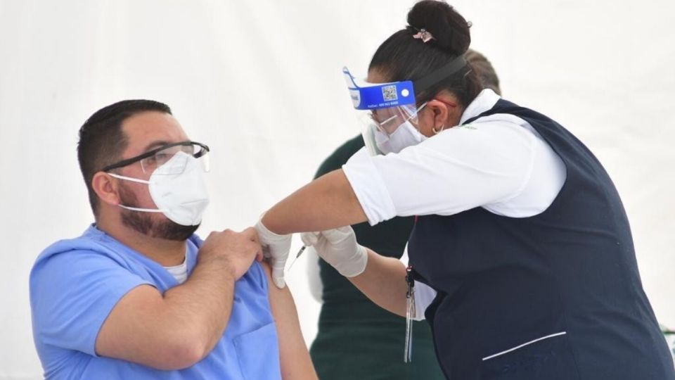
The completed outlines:
<svg viewBox="0 0 675 380">
<path fill-rule="evenodd" d="M 406 265 L 403 262 L 368 249 L 366 270 L 347 279 L 380 308 L 406 316 Z"/>
</svg>

